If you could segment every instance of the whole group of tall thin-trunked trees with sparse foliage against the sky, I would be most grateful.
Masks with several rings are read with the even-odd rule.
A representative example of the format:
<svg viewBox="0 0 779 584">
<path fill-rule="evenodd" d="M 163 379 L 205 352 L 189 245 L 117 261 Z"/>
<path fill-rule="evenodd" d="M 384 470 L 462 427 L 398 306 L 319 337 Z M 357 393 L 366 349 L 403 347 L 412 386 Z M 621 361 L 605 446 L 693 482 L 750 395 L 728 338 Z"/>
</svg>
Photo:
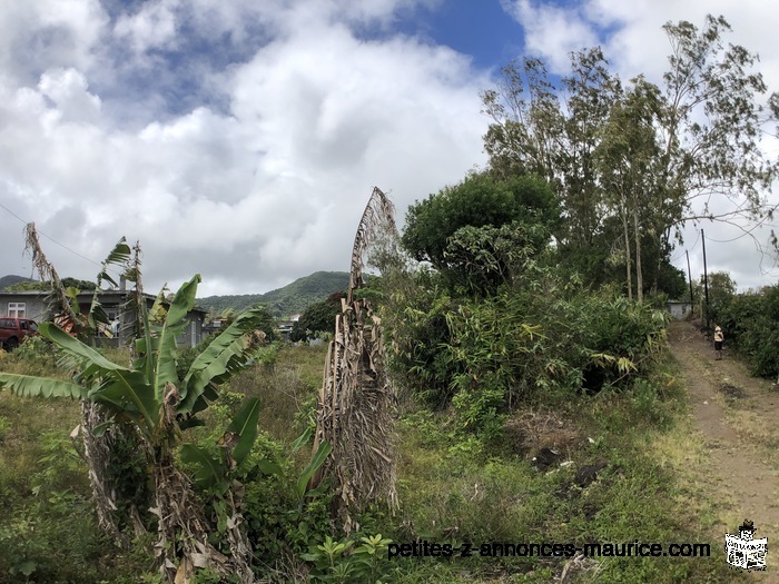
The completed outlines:
<svg viewBox="0 0 779 584">
<path fill-rule="evenodd" d="M 482 96 L 491 169 L 535 172 L 561 198 L 560 260 L 588 284 L 621 280 L 630 293 L 634 255 L 639 298 L 674 295 L 661 288 L 662 265 L 686 221 L 770 214 L 779 170 L 761 147 L 779 118 L 779 95 L 763 105 L 757 57 L 726 43 L 721 17 L 707 17 L 702 29 L 681 21 L 663 30 L 671 55 L 662 87 L 637 76 L 625 90 L 598 48 L 573 53 L 559 80 L 540 59 L 512 62 Z M 624 258 L 622 275 L 603 271 L 614 255 Z"/>
</svg>

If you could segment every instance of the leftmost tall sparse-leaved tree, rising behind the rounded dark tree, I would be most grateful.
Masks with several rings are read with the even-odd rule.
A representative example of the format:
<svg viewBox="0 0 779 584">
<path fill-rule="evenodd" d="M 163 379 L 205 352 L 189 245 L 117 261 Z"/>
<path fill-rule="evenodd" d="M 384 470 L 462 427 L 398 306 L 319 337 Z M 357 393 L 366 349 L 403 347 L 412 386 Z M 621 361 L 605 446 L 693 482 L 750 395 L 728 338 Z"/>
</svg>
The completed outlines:
<svg viewBox="0 0 779 584">
<path fill-rule="evenodd" d="M 573 53 L 571 75 L 556 86 L 542 60 L 513 61 L 497 88 L 482 93 L 492 118 L 484 137 L 490 167 L 503 177 L 534 172 L 552 185 L 565 219 L 555 235 L 576 255 L 600 247 L 604 214 L 594 152 L 621 93 L 600 49 Z"/>
</svg>

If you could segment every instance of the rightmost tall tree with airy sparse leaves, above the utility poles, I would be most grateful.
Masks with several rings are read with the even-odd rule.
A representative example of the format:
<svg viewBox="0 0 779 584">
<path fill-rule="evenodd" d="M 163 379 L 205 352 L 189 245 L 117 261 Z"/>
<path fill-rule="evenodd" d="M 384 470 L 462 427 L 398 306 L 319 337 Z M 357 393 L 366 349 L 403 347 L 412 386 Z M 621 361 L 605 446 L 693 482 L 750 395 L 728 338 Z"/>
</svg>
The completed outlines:
<svg viewBox="0 0 779 584">
<path fill-rule="evenodd" d="M 777 93 L 770 97 L 771 108 L 761 102 L 768 88 L 753 70 L 758 58 L 743 47 L 726 47 L 730 24 L 724 18 L 708 16 L 702 30 L 687 21 L 663 29 L 671 55 L 663 76 L 662 178 L 670 194 L 681 197 L 681 205 L 671 200 L 681 207 L 674 218 L 759 216 L 778 171 L 776 158 L 760 146 L 779 119 Z M 702 214 L 690 212 L 693 201 L 713 196 L 736 205 L 714 214 L 707 204 Z"/>
</svg>

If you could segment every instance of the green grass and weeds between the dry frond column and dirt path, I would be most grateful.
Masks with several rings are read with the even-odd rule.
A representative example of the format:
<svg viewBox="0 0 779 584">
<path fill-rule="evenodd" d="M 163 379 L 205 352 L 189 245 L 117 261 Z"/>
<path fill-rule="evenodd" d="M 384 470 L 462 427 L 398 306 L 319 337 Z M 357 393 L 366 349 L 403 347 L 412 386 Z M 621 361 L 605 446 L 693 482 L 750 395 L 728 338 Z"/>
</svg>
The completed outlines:
<svg viewBox="0 0 779 584">
<path fill-rule="evenodd" d="M 558 541 L 576 545 L 635 537 L 665 542 L 680 534 L 690 542 L 710 542 L 712 551 L 721 545 L 710 538 L 698 514 L 702 502 L 694 482 L 677 475 L 677 471 L 689 472 L 698 443 L 686 438 L 692 451 L 688 442 L 678 444 L 686 436 L 687 420 L 676 372 L 661 365 L 620 392 L 598 396 L 539 397 L 532 408 L 511 420 L 536 414 L 535 426 L 529 425 L 504 452 L 484 448 L 472 456 L 454 447 L 465 446 L 466 437 L 452 432 L 446 414 L 415 410 L 406 415 L 398 466 L 402 515 L 393 529 L 382 533 L 396 542 L 426 540 L 455 547 L 463 542 L 543 541 L 551 531 Z M 565 465 L 539 472 L 531 463 L 535 451 L 524 446 L 544 432 L 555 441 Z M 658 442 L 663 446 L 648 447 Z M 669 457 L 678 461 L 678 469 L 670 467 Z M 599 468 L 596 474 L 586 478 L 593 467 Z M 690 505 L 691 501 L 699 506 Z M 472 557 L 405 558 L 398 561 L 403 570 L 398 580 L 542 583 L 560 577 L 559 561 L 479 556 L 475 551 Z M 448 572 L 453 564 L 454 573 Z M 622 557 L 599 564 L 598 582 L 731 578 L 727 565 L 699 558 Z M 581 573 L 576 577 L 591 580 Z"/>
</svg>

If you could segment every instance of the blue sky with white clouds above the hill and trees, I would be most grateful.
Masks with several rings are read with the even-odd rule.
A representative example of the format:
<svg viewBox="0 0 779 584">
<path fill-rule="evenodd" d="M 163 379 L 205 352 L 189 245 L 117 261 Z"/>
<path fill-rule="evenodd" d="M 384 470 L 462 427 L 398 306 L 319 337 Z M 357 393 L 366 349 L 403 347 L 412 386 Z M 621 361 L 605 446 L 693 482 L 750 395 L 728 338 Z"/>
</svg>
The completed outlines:
<svg viewBox="0 0 779 584">
<path fill-rule="evenodd" d="M 61 276 L 93 280 L 120 237 L 147 291 L 259 294 L 348 270 L 379 187 L 406 209 L 484 168 L 480 92 L 511 59 L 552 73 L 602 46 L 660 83 L 661 27 L 707 13 L 779 89 L 765 0 L 29 0 L 0 2 L 0 276 L 31 276 L 34 221 Z M 771 195 L 776 200 L 777 195 Z M 756 239 L 709 222 L 673 263 L 777 283 Z"/>
</svg>

